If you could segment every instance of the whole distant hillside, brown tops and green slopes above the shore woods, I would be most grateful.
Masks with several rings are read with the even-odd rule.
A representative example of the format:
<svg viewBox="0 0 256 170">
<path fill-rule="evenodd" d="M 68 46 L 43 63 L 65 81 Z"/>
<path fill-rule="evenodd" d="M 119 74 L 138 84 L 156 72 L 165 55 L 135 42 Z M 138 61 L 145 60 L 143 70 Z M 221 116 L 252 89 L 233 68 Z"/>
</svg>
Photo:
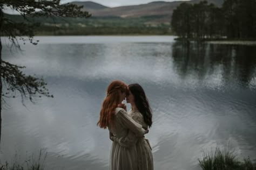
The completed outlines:
<svg viewBox="0 0 256 170">
<path fill-rule="evenodd" d="M 221 6 L 224 0 L 208 0 L 217 6 Z M 178 5 L 184 1 L 165 2 L 157 1 L 147 4 L 119 6 L 116 8 L 109 8 L 107 6 L 86 1 L 86 2 L 72 2 L 79 6 L 83 5 L 84 11 L 89 11 L 92 17 L 83 18 L 56 18 L 55 23 L 51 18 L 39 17 L 37 22 L 43 23 L 45 26 L 59 27 L 170 27 L 172 12 Z M 198 3 L 200 0 L 186 1 L 186 3 Z M 23 20 L 21 16 L 6 15 L 12 20 Z"/>
</svg>

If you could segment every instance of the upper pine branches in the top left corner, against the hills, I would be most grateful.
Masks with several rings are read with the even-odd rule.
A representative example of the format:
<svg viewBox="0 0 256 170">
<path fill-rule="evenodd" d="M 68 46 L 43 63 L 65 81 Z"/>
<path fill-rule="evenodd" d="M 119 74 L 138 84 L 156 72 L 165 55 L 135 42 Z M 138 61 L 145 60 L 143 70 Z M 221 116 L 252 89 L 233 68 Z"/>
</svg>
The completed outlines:
<svg viewBox="0 0 256 170">
<path fill-rule="evenodd" d="M 31 44 L 37 45 L 38 41 L 33 40 L 35 27 L 39 27 L 40 23 L 34 22 L 36 17 L 55 18 L 88 18 L 91 15 L 87 11 L 83 11 L 83 6 L 75 4 L 59 4 L 60 0 L 1 0 L 0 10 L 5 6 L 14 9 L 24 18 L 24 22 L 14 22 L 11 19 L 3 18 L 0 36 L 6 36 L 12 45 L 19 48 L 17 37 L 20 37 L 25 43 L 29 40 Z M 27 36 L 28 39 L 22 36 Z"/>
</svg>

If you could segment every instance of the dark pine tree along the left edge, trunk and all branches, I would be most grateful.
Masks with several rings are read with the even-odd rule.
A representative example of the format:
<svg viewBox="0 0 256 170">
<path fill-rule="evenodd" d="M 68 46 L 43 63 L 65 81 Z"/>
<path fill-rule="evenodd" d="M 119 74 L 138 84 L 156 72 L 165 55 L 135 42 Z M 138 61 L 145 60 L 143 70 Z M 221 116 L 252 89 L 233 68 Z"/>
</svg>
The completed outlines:
<svg viewBox="0 0 256 170">
<path fill-rule="evenodd" d="M 4 9 L 13 9 L 23 17 L 22 22 L 17 22 L 5 17 Z M 13 65 L 2 60 L 2 40 L 1 37 L 7 37 L 11 41 L 11 47 L 21 49 L 19 43 L 29 41 L 37 45 L 38 41 L 33 39 L 33 30 L 40 26 L 35 22 L 36 17 L 80 17 L 87 18 L 91 15 L 83 11 L 83 6 L 75 4 L 60 4 L 60 0 L 0 0 L 0 141 L 2 129 L 2 101 L 3 97 L 15 97 L 15 92 L 19 91 L 22 100 L 28 98 L 31 102 L 35 97 L 53 97 L 45 87 L 43 79 L 31 75 L 25 75 L 21 66 Z M 3 86 L 7 90 L 3 94 Z"/>
</svg>

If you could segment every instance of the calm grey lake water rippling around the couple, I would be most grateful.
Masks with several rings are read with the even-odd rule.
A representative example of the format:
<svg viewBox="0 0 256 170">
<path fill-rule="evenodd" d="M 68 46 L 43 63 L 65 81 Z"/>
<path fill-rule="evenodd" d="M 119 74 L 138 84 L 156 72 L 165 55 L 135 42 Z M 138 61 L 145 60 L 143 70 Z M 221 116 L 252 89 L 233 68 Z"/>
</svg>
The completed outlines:
<svg viewBox="0 0 256 170">
<path fill-rule="evenodd" d="M 111 141 L 96 123 L 113 80 L 145 89 L 155 169 L 199 169 L 202 149 L 228 143 L 239 159 L 256 159 L 256 46 L 170 36 L 36 39 L 22 52 L 4 45 L 3 58 L 43 76 L 55 97 L 25 107 L 20 97 L 5 99 L 2 162 L 44 148 L 47 169 L 107 169 Z"/>
</svg>

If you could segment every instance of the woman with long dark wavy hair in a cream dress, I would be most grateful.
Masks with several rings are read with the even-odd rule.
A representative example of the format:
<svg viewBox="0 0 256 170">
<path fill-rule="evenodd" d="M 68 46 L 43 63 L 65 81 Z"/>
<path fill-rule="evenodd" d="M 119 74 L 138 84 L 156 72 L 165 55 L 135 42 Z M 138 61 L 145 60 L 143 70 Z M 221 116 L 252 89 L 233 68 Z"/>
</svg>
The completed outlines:
<svg viewBox="0 0 256 170">
<path fill-rule="evenodd" d="M 129 85 L 130 94 L 126 96 L 126 102 L 131 104 L 129 115 L 131 118 L 141 124 L 145 130 L 152 125 L 152 111 L 145 95 L 143 88 L 139 84 Z M 117 141 L 120 145 L 125 147 L 132 147 L 136 145 L 138 154 L 138 169 L 139 170 L 153 170 L 153 156 L 152 148 L 149 140 L 145 137 L 136 137 L 132 131 L 126 137 L 116 138 L 111 140 Z"/>
</svg>

